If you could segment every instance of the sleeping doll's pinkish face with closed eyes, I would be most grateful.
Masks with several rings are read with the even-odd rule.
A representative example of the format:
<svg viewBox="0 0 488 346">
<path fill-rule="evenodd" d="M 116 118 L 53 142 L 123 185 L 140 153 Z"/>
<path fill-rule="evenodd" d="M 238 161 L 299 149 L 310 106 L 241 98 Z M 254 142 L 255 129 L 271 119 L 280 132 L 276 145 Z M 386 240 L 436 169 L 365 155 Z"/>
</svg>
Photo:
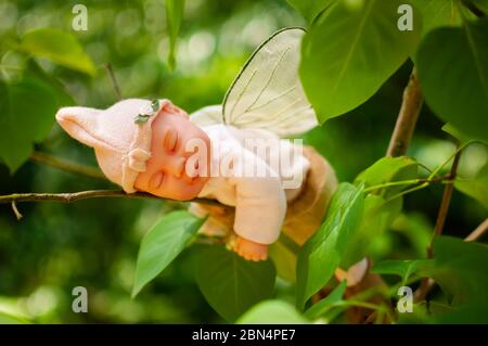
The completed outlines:
<svg viewBox="0 0 488 346">
<path fill-rule="evenodd" d="M 138 175 L 134 188 L 164 198 L 196 197 L 209 176 L 208 136 L 181 113 L 157 115 L 152 132 L 151 158 L 146 170 Z"/>
</svg>

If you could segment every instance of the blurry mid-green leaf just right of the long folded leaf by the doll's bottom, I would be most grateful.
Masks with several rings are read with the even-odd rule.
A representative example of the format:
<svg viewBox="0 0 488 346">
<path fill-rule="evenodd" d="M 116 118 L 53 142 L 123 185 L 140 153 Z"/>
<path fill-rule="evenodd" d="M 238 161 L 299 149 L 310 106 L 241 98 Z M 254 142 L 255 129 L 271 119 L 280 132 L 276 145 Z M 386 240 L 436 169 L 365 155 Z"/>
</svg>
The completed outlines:
<svg viewBox="0 0 488 346">
<path fill-rule="evenodd" d="M 350 240 L 343 255 L 341 266 L 349 268 L 365 256 L 375 258 L 374 249 L 381 235 L 389 229 L 393 221 L 400 215 L 402 198 L 386 202 L 378 195 L 368 194 L 364 197 L 364 212 L 358 231 Z"/>
</svg>

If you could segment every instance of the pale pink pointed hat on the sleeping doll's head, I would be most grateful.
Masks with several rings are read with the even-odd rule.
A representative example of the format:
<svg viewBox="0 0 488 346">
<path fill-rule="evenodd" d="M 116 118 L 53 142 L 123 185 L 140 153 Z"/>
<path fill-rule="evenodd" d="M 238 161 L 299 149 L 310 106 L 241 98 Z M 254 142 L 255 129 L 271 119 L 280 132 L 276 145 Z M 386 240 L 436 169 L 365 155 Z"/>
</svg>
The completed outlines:
<svg viewBox="0 0 488 346">
<path fill-rule="evenodd" d="M 164 113 L 184 113 L 169 100 L 128 99 L 107 110 L 64 107 L 57 123 L 73 138 L 94 149 L 97 161 L 108 180 L 127 193 L 151 157 L 151 124 Z"/>
</svg>

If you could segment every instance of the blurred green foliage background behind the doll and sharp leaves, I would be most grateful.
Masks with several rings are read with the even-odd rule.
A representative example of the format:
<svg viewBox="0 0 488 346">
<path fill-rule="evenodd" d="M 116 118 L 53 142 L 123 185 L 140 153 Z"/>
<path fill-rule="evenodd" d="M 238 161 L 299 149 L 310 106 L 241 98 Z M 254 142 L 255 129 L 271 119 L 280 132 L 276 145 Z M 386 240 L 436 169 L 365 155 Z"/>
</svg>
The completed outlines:
<svg viewBox="0 0 488 346">
<path fill-rule="evenodd" d="M 88 30 L 72 29 L 72 8 L 79 1 L 0 0 L 0 42 L 35 28 L 72 33 L 94 61 L 94 78 L 39 64 L 59 78 L 76 104 L 107 107 L 117 101 L 104 64 L 111 63 L 125 98 L 171 99 L 189 113 L 220 103 L 251 52 L 274 30 L 305 26 L 285 0 L 188 0 L 177 53 L 177 68 L 167 65 L 169 38 L 163 0 L 84 1 Z M 0 44 L 1 46 L 1 44 Z M 9 50 L 0 55 L 2 74 L 25 63 Z M 326 64 L 326 62 L 324 62 Z M 370 101 L 328 121 L 305 138 L 335 167 L 341 181 L 351 181 L 385 154 L 401 94 L 412 64 L 407 62 Z M 53 114 L 54 117 L 54 114 Z M 429 168 L 454 150 L 442 123 L 424 106 L 409 155 Z M 90 149 L 56 126 L 41 152 L 95 165 Z M 487 159 L 485 146 L 471 145 L 460 175 L 476 171 Z M 0 193 L 69 192 L 114 188 L 107 182 L 26 163 L 13 176 L 0 165 Z M 404 215 L 377 242 L 378 258 L 425 256 L 441 185 L 409 194 Z M 194 281 L 192 249 L 184 252 L 136 298 L 130 298 L 139 243 L 149 228 L 182 204 L 139 200 L 89 200 L 75 204 L 21 203 L 17 221 L 10 205 L 0 206 L 0 310 L 35 322 L 220 322 Z M 486 217 L 481 205 L 454 191 L 446 234 L 465 236 Z M 72 290 L 86 286 L 89 312 L 74 313 Z M 278 295 L 293 299 L 279 281 Z"/>
</svg>

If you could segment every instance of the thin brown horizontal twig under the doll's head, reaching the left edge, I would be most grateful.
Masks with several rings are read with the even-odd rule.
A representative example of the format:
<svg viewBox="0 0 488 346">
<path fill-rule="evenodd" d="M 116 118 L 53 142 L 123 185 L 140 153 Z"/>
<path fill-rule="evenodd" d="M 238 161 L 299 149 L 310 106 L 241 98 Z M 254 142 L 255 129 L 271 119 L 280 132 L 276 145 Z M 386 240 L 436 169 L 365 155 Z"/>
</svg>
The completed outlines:
<svg viewBox="0 0 488 346">
<path fill-rule="evenodd" d="M 145 192 L 126 193 L 121 190 L 89 190 L 80 192 L 65 192 L 65 193 L 12 193 L 8 195 L 0 195 L 1 203 L 17 203 L 17 202 L 61 202 L 72 203 L 88 198 L 100 197 L 121 197 L 121 198 L 154 198 L 160 201 L 181 202 L 169 198 L 160 198 Z M 214 200 L 194 198 L 188 202 L 197 202 L 204 204 L 218 204 Z"/>
</svg>

